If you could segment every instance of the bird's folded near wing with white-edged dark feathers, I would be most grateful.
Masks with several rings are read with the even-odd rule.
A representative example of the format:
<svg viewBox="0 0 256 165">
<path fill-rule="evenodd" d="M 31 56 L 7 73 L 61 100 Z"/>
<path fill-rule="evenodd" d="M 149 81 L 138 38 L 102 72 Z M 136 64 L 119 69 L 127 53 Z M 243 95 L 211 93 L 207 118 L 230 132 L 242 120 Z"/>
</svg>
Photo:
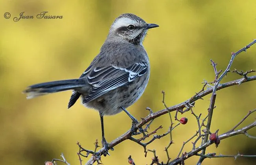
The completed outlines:
<svg viewBox="0 0 256 165">
<path fill-rule="evenodd" d="M 88 83 L 93 87 L 83 103 L 87 103 L 110 90 L 134 81 L 137 77 L 147 73 L 147 68 L 148 66 L 145 62 L 135 63 L 128 68 L 120 68 L 113 65 L 94 68 L 87 76 Z"/>
</svg>

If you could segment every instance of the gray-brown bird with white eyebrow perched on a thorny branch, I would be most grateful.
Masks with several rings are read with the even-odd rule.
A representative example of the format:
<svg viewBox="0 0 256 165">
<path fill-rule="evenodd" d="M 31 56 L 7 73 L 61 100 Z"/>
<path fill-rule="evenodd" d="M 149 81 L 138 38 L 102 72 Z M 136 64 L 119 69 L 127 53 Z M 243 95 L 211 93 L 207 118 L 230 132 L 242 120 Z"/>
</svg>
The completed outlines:
<svg viewBox="0 0 256 165">
<path fill-rule="evenodd" d="M 140 17 L 126 13 L 111 25 L 108 37 L 89 67 L 79 79 L 52 81 L 29 86 L 27 99 L 64 90 L 73 90 L 68 108 L 81 97 L 84 106 L 98 110 L 102 127 L 102 145 L 108 152 L 104 137 L 104 115 L 114 115 L 125 109 L 143 94 L 149 79 L 150 65 L 142 42 L 148 29 L 158 27 L 147 24 Z M 106 156 L 106 154 L 104 154 Z"/>
</svg>

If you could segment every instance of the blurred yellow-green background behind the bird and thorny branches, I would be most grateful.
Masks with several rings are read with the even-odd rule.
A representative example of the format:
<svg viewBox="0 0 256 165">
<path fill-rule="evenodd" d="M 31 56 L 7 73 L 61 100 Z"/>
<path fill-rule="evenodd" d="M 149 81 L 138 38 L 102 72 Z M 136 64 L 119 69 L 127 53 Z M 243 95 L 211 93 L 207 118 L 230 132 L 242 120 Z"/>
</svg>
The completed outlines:
<svg viewBox="0 0 256 165">
<path fill-rule="evenodd" d="M 148 106 L 154 112 L 163 109 L 161 90 L 166 93 L 167 106 L 181 103 L 202 88 L 202 81 L 213 81 L 210 59 L 217 69 L 224 70 L 230 53 L 256 38 L 255 0 L 0 0 L 0 164 L 35 165 L 60 158 L 61 152 L 70 164 L 79 164 L 79 141 L 84 148 L 94 149 L 95 139 L 101 140 L 100 118 L 95 110 L 85 108 L 78 101 L 67 110 L 72 91 L 60 92 L 27 100 L 22 90 L 31 84 L 79 77 L 99 52 L 113 20 L 122 13 L 134 13 L 148 23 L 160 25 L 148 31 L 144 46 L 151 64 L 148 87 L 137 103 L 128 108 L 137 119 L 148 115 Z M 14 22 L 15 16 L 33 15 L 34 19 Z M 62 15 L 62 19 L 37 19 L 36 15 Z M 4 18 L 9 12 L 11 18 Z M 235 59 L 231 70 L 256 69 L 256 45 Z M 255 75 L 252 73 L 251 75 Z M 241 76 L 228 73 L 223 83 Z M 213 114 L 211 132 L 222 134 L 234 127 L 249 110 L 256 107 L 256 82 L 225 88 L 217 92 L 217 108 Z M 193 109 L 202 117 L 207 114 L 210 95 L 198 100 Z M 174 113 L 172 113 L 174 116 Z M 197 121 L 191 114 L 188 123 L 173 130 L 174 144 L 169 148 L 176 158 L 183 141 L 197 130 Z M 254 121 L 255 114 L 242 126 Z M 106 116 L 105 134 L 112 141 L 131 127 L 125 113 Z M 175 121 L 177 123 L 177 121 Z M 159 117 L 150 130 L 163 125 L 158 134 L 170 125 L 169 116 Z M 256 129 L 249 131 L 256 135 Z M 169 136 L 157 139 L 147 149 L 156 149 L 160 161 L 166 161 L 164 148 Z M 198 143 L 199 144 L 199 143 Z M 190 151 L 188 143 L 183 151 Z M 244 135 L 224 139 L 218 148 L 214 145 L 206 153 L 256 154 L 255 139 Z M 132 155 L 135 163 L 150 164 L 152 153 L 144 157 L 143 147 L 124 141 L 102 158 L 104 164 L 128 164 Z M 195 164 L 197 156 L 185 161 Z M 86 158 L 83 158 L 86 162 Z M 255 158 L 205 159 L 204 164 L 254 164 Z M 61 163 L 59 163 L 61 164 Z"/>
</svg>

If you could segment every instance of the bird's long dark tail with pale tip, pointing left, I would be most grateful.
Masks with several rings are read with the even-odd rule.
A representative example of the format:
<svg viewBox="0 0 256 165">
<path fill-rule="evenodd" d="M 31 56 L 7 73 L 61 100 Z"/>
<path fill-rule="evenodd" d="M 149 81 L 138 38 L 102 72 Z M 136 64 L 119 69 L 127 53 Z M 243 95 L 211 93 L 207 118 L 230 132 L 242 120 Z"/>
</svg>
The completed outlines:
<svg viewBox="0 0 256 165">
<path fill-rule="evenodd" d="M 60 92 L 64 90 L 74 90 L 76 88 L 85 86 L 85 84 L 86 82 L 84 79 L 52 81 L 28 86 L 28 89 L 24 90 L 23 92 L 27 94 L 27 99 L 32 99 L 40 95 Z"/>
</svg>

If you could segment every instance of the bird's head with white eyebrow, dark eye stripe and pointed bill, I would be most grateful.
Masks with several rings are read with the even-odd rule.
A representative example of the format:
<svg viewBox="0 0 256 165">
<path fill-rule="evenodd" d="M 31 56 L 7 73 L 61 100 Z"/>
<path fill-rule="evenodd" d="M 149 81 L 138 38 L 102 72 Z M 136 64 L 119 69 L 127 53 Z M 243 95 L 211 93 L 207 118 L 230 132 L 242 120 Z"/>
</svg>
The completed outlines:
<svg viewBox="0 0 256 165">
<path fill-rule="evenodd" d="M 108 37 L 126 40 L 135 45 L 142 45 L 148 29 L 154 27 L 158 27 L 158 25 L 147 24 L 140 17 L 126 13 L 115 19 L 110 27 Z"/>
</svg>

